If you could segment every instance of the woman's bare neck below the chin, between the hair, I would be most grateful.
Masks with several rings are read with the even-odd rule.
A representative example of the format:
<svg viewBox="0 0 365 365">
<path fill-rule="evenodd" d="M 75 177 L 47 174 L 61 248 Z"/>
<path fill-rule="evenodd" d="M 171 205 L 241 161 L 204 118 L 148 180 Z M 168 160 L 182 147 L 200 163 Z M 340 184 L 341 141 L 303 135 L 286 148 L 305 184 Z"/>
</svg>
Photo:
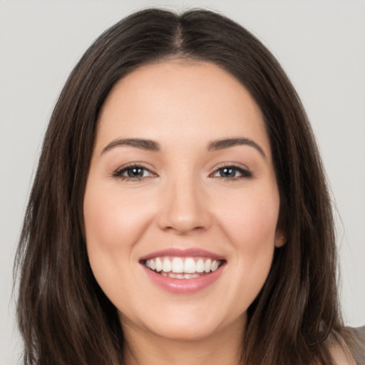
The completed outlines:
<svg viewBox="0 0 365 365">
<path fill-rule="evenodd" d="M 202 339 L 166 339 L 123 326 L 126 365 L 242 365 L 242 325 L 232 324 Z"/>
</svg>

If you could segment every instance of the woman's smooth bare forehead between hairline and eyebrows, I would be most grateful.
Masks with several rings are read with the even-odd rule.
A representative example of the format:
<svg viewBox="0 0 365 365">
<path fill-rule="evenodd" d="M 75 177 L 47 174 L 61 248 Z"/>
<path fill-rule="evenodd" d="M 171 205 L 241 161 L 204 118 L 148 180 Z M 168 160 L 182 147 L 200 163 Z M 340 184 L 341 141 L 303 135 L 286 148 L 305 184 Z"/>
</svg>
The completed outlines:
<svg viewBox="0 0 365 365">
<path fill-rule="evenodd" d="M 164 61 L 115 84 L 99 115 L 98 139 L 204 143 L 254 138 L 269 154 L 261 110 L 240 81 L 214 63 Z M 98 141 L 97 141 L 98 144 Z"/>
</svg>

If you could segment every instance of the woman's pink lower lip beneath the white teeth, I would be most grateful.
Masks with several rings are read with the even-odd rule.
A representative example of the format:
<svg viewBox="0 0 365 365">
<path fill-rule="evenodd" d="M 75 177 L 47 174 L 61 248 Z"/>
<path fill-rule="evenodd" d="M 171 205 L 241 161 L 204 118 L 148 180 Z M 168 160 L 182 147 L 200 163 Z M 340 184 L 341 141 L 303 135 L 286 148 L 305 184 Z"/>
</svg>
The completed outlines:
<svg viewBox="0 0 365 365">
<path fill-rule="evenodd" d="M 222 264 L 218 269 L 210 274 L 202 275 L 201 277 L 193 277 L 192 279 L 175 279 L 173 277 L 164 277 L 143 265 L 145 273 L 148 277 L 161 289 L 173 294 L 194 294 L 205 289 L 207 286 L 215 282 L 222 274 L 222 269 L 225 264 Z"/>
</svg>

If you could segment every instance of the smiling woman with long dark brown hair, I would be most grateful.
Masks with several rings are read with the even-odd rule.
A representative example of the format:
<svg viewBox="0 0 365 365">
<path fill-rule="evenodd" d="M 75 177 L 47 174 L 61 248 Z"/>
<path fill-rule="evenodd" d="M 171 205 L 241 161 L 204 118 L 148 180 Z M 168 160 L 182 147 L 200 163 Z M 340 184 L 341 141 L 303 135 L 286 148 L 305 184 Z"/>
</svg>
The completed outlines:
<svg viewBox="0 0 365 365">
<path fill-rule="evenodd" d="M 68 78 L 17 262 L 24 364 L 354 364 L 311 128 L 209 11 L 120 21 Z"/>
</svg>

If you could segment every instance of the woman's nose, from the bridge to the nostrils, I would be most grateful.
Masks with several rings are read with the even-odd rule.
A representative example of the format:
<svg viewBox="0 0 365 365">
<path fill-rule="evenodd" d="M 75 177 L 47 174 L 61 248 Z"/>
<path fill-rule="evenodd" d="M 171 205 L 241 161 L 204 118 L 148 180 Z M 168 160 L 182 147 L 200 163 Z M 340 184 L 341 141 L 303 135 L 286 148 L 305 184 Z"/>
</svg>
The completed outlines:
<svg viewBox="0 0 365 365">
<path fill-rule="evenodd" d="M 161 230 L 187 235 L 207 230 L 210 224 L 207 195 L 197 182 L 184 179 L 168 185 L 158 216 Z"/>
</svg>

